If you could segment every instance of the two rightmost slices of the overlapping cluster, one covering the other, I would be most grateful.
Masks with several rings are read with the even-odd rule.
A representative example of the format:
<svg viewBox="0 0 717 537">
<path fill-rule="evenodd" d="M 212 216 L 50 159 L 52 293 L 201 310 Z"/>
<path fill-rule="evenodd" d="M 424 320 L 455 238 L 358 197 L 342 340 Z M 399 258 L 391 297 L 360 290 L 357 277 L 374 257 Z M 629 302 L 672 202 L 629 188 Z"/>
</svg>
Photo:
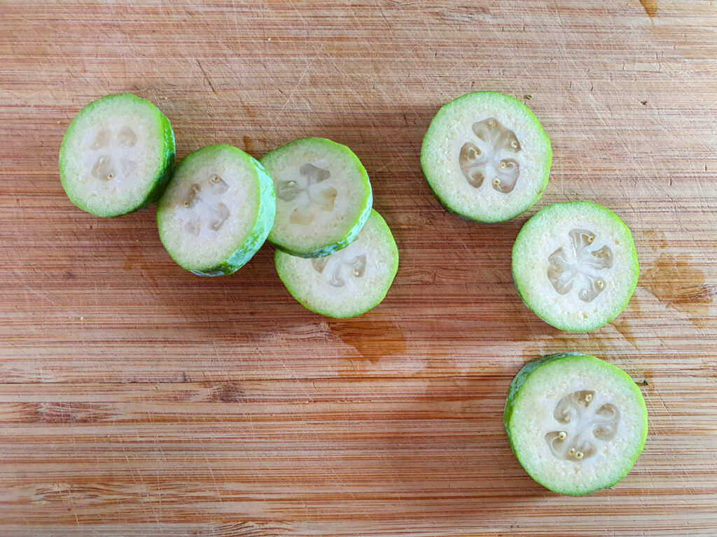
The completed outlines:
<svg viewBox="0 0 717 537">
<path fill-rule="evenodd" d="M 379 304 L 396 276 L 398 249 L 371 208 L 371 183 L 359 158 L 326 138 L 303 138 L 261 163 L 276 190 L 268 240 L 286 289 L 330 317 L 358 316 Z"/>
</svg>

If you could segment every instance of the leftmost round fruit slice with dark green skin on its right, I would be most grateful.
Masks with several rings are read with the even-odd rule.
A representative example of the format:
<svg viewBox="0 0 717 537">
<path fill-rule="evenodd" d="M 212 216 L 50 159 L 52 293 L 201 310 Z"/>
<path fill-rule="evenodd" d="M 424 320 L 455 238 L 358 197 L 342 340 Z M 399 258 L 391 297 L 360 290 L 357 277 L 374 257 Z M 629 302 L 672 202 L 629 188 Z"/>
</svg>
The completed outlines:
<svg viewBox="0 0 717 537">
<path fill-rule="evenodd" d="M 130 93 L 90 102 L 62 138 L 62 188 L 72 203 L 96 216 L 120 216 L 154 203 L 172 168 L 169 120 Z"/>
</svg>

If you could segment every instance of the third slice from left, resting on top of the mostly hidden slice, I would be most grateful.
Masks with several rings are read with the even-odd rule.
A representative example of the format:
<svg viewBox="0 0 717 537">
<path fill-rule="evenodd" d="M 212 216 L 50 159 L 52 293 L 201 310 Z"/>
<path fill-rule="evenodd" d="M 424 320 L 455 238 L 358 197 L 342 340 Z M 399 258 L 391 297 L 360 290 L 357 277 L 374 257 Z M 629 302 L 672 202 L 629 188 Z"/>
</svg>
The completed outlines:
<svg viewBox="0 0 717 537">
<path fill-rule="evenodd" d="M 369 175 L 346 145 L 302 138 L 267 153 L 261 163 L 276 189 L 269 234 L 276 248 L 293 256 L 328 256 L 346 248 L 369 218 Z"/>
</svg>

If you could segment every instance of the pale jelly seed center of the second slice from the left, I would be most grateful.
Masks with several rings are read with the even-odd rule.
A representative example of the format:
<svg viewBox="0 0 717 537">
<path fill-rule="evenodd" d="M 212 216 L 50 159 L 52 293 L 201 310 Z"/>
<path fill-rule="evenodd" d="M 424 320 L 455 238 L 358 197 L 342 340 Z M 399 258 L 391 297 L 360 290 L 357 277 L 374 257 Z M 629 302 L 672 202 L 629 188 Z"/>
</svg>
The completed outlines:
<svg viewBox="0 0 717 537">
<path fill-rule="evenodd" d="M 217 173 L 209 173 L 204 180 L 189 185 L 181 203 L 184 230 L 192 235 L 199 235 L 202 228 L 219 231 L 231 214 L 222 203 L 227 190 L 229 185 Z"/>
</svg>

